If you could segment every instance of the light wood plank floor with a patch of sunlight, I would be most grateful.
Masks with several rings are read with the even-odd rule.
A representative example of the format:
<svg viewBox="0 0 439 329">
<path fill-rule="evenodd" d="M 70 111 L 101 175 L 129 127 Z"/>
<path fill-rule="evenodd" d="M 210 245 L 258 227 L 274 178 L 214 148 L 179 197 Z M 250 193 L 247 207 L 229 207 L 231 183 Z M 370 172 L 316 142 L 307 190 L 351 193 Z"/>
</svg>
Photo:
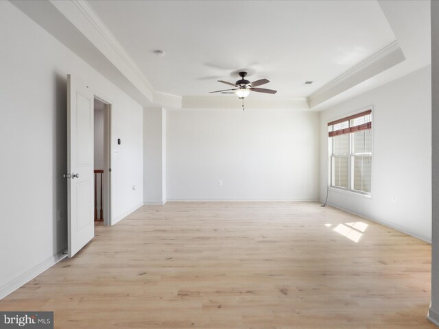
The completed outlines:
<svg viewBox="0 0 439 329">
<path fill-rule="evenodd" d="M 437 328 L 430 252 L 312 202 L 143 206 L 0 310 L 54 310 L 62 329 Z"/>
</svg>

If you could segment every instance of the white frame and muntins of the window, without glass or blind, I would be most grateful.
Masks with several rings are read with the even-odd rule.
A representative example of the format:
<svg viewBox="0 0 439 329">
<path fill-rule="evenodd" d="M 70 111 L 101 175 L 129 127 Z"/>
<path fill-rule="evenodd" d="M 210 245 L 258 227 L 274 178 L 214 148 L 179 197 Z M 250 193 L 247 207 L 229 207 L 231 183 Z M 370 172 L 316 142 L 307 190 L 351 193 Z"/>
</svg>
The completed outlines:
<svg viewBox="0 0 439 329">
<path fill-rule="evenodd" d="M 358 110 L 358 111 L 355 111 L 355 112 L 352 112 L 351 114 L 348 114 L 348 115 L 346 115 L 346 116 L 344 116 L 344 117 L 340 117 L 339 119 L 335 119 L 335 120 L 331 120 L 331 121 L 337 121 L 337 120 L 341 120 L 341 119 L 344 119 L 344 118 L 348 118 L 348 117 L 351 117 L 351 116 L 355 116 L 355 114 L 359 114 L 359 113 L 361 113 L 361 112 L 366 112 L 367 110 L 371 110 L 371 112 L 370 112 L 370 122 L 371 123 L 373 123 L 373 107 L 372 106 L 368 106 L 367 108 L 364 108 L 364 109 L 362 109 L 362 110 Z M 350 121 L 351 119 L 349 119 L 349 121 Z M 331 122 L 330 121 L 330 122 Z M 347 121 L 347 120 L 346 120 Z M 350 124 L 349 124 L 350 125 Z M 366 196 L 366 197 L 372 197 L 372 192 L 373 192 L 373 184 L 372 184 L 372 181 L 373 181 L 373 162 L 374 162 L 374 151 L 373 151 L 373 149 L 374 149 L 374 147 L 373 147 L 373 126 L 369 129 L 370 130 L 370 153 L 369 152 L 364 152 L 364 153 L 357 153 L 357 154 L 355 154 L 355 153 L 353 153 L 353 151 L 354 151 L 354 149 L 353 149 L 353 138 L 354 138 L 354 134 L 355 134 L 355 132 L 349 132 L 348 133 L 348 136 L 349 136 L 349 138 L 348 138 L 348 143 L 349 143 L 349 146 L 348 146 L 348 154 L 346 155 L 347 156 L 347 158 L 348 158 L 348 173 L 347 173 L 347 180 L 348 180 L 348 182 L 347 182 L 347 186 L 348 187 L 343 187 L 343 186 L 336 186 L 336 185 L 334 185 L 333 184 L 333 177 L 334 177 L 334 175 L 333 175 L 333 172 L 334 172 L 334 170 L 335 170 L 335 166 L 333 166 L 333 159 L 335 158 L 335 157 L 340 157 L 340 156 L 344 156 L 344 155 L 335 155 L 334 154 L 334 152 L 333 152 L 333 147 L 334 147 L 334 145 L 333 145 L 333 137 L 335 137 L 335 136 L 327 136 L 327 138 L 328 138 L 328 186 L 329 186 L 329 188 L 331 188 L 331 189 L 333 189 L 333 190 L 335 190 L 335 191 L 340 191 L 340 192 L 343 192 L 343 193 L 348 193 L 349 195 L 363 195 L 363 196 Z M 364 192 L 364 191 L 359 191 L 359 190 L 355 190 L 355 188 L 354 188 L 354 178 L 353 178 L 353 175 L 354 175 L 354 170 L 353 170 L 353 166 L 354 166 L 354 164 L 353 164 L 353 162 L 355 161 L 355 156 L 370 156 L 370 161 L 371 161 L 371 164 L 370 164 L 370 192 Z"/>
</svg>

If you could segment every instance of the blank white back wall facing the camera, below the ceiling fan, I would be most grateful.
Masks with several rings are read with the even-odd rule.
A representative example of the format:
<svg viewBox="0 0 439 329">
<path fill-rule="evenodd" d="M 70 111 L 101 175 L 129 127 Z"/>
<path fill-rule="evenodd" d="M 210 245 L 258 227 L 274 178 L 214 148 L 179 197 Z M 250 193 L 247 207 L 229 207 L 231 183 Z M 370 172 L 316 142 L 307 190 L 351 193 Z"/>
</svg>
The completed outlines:
<svg viewBox="0 0 439 329">
<path fill-rule="evenodd" d="M 315 200 L 318 141 L 316 112 L 167 110 L 167 199 Z"/>
</svg>

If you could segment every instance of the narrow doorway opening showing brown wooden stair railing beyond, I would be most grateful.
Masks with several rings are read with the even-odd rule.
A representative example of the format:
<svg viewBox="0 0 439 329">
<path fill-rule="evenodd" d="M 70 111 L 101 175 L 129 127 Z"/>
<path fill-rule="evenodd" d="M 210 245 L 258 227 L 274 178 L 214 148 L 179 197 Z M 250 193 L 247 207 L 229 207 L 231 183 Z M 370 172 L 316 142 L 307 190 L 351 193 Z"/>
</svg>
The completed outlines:
<svg viewBox="0 0 439 329">
<path fill-rule="evenodd" d="M 111 105 L 102 99 L 94 100 L 94 214 L 95 225 L 111 225 Z"/>
</svg>

